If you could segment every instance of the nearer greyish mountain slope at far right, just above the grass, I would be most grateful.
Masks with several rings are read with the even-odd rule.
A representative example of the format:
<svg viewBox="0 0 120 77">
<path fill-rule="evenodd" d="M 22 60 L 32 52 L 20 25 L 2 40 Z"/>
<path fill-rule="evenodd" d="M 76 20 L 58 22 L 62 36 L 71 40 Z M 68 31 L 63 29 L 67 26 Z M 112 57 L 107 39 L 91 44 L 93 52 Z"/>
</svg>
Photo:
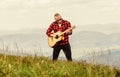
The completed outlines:
<svg viewBox="0 0 120 77">
<path fill-rule="evenodd" d="M 95 64 L 105 64 L 120 68 L 120 50 L 114 49 L 107 54 L 86 55 L 77 60 L 86 60 L 87 62 L 93 62 Z"/>
</svg>

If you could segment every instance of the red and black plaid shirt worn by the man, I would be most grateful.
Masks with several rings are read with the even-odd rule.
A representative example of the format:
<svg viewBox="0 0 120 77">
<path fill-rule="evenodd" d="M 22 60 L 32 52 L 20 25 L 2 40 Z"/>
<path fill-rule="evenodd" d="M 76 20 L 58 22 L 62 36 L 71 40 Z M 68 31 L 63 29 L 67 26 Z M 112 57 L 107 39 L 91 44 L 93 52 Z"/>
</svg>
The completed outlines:
<svg viewBox="0 0 120 77">
<path fill-rule="evenodd" d="M 57 31 L 63 32 L 63 31 L 65 31 L 66 29 L 68 29 L 68 28 L 70 28 L 70 27 L 71 27 L 71 24 L 70 24 L 69 21 L 62 20 L 61 27 L 59 27 L 57 21 L 55 21 L 55 22 L 53 22 L 53 23 L 49 26 L 49 28 L 47 29 L 46 34 L 47 34 L 48 36 L 50 36 L 50 34 L 52 34 L 52 33 L 56 33 Z M 52 32 L 52 31 L 53 31 L 53 32 Z M 70 33 L 70 34 L 65 33 L 65 34 L 64 34 L 64 40 L 61 40 L 61 41 L 59 42 L 59 45 L 66 45 L 66 44 L 68 44 L 68 43 L 69 43 L 69 36 L 68 36 L 68 35 L 71 35 L 71 34 L 72 34 L 72 30 L 71 30 L 71 33 Z"/>
</svg>

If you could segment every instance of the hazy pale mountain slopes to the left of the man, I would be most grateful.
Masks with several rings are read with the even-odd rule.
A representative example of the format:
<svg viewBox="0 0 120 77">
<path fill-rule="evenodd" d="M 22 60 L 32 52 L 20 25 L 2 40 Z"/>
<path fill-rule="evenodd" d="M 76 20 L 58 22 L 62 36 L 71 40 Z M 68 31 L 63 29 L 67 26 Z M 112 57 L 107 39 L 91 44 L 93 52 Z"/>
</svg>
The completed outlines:
<svg viewBox="0 0 120 77">
<path fill-rule="evenodd" d="M 49 49 L 44 29 L 24 29 L 0 36 L 0 48 L 9 46 L 9 50 L 44 51 Z M 44 45 L 43 45 L 44 44 Z M 47 48 L 46 48 L 47 47 Z M 47 50 L 46 50 L 47 51 Z"/>
</svg>

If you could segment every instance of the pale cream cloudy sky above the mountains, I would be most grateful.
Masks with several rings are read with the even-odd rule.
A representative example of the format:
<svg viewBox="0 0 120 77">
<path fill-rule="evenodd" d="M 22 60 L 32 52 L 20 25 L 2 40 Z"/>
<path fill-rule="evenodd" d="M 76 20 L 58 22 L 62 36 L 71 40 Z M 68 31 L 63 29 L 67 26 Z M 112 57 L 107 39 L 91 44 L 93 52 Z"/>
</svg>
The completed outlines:
<svg viewBox="0 0 120 77">
<path fill-rule="evenodd" d="M 0 0 L 0 30 L 47 28 L 56 12 L 83 31 L 120 32 L 120 0 Z"/>
</svg>

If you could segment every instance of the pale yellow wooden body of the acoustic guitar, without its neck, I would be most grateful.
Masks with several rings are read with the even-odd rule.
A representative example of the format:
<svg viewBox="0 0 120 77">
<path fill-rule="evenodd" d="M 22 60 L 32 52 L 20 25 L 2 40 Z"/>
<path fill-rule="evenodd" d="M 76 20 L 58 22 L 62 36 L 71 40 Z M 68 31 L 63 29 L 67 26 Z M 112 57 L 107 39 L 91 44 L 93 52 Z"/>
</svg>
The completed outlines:
<svg viewBox="0 0 120 77">
<path fill-rule="evenodd" d="M 59 35 L 61 34 L 60 31 L 56 32 L 55 34 L 58 35 L 57 38 L 48 37 L 48 45 L 49 45 L 50 47 L 54 47 L 54 46 L 57 44 L 57 42 L 59 42 L 59 41 L 61 41 L 61 40 L 64 40 L 64 37 L 63 37 L 63 36 L 59 36 Z"/>
</svg>

